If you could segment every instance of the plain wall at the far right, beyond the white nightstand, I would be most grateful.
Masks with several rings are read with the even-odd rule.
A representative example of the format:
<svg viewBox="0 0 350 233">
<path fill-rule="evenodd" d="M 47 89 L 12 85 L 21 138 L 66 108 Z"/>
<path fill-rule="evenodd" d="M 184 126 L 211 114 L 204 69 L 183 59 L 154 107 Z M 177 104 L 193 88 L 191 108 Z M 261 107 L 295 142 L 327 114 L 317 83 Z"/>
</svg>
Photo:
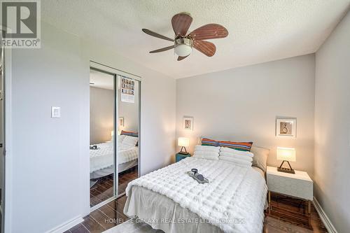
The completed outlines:
<svg viewBox="0 0 350 233">
<path fill-rule="evenodd" d="M 350 229 L 350 13 L 316 52 L 315 196 L 338 232 Z"/>
</svg>

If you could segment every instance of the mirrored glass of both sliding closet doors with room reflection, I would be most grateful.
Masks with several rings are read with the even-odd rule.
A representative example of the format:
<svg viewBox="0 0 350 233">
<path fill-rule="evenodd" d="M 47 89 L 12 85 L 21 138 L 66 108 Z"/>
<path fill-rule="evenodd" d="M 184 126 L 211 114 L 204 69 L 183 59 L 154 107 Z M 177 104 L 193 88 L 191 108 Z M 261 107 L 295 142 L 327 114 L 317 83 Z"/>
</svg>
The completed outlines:
<svg viewBox="0 0 350 233">
<path fill-rule="evenodd" d="M 134 103 L 123 102 L 120 99 L 120 78 L 118 75 L 90 71 L 90 206 L 122 194 L 127 184 L 138 177 L 138 82 L 134 87 Z M 118 91 L 116 120 L 115 79 Z M 114 165 L 115 141 L 118 145 L 118 166 Z M 116 193 L 115 167 L 118 173 Z"/>
</svg>

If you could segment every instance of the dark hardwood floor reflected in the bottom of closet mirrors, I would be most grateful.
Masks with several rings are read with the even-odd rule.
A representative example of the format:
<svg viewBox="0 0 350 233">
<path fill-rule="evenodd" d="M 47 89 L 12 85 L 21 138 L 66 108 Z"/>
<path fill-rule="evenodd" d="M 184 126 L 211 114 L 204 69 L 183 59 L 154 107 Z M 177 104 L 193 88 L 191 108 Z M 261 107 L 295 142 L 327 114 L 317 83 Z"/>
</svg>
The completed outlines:
<svg viewBox="0 0 350 233">
<path fill-rule="evenodd" d="M 118 195 L 125 192 L 127 184 L 137 178 L 137 166 L 118 175 Z M 97 183 L 90 188 L 90 206 L 95 206 L 113 197 L 113 174 L 96 179 Z"/>
</svg>

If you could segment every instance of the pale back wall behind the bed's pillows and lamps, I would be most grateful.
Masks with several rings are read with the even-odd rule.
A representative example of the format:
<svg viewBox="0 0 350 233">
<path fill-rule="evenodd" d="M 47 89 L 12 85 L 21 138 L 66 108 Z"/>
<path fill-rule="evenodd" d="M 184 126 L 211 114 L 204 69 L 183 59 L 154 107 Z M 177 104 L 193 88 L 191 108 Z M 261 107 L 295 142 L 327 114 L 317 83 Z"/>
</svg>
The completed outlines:
<svg viewBox="0 0 350 233">
<path fill-rule="evenodd" d="M 176 137 L 253 141 L 271 149 L 267 164 L 279 165 L 276 146 L 294 147 L 295 169 L 314 169 L 314 55 L 267 62 L 176 80 Z M 183 130 L 193 116 L 194 131 Z M 276 116 L 297 118 L 297 138 L 275 136 Z"/>
</svg>

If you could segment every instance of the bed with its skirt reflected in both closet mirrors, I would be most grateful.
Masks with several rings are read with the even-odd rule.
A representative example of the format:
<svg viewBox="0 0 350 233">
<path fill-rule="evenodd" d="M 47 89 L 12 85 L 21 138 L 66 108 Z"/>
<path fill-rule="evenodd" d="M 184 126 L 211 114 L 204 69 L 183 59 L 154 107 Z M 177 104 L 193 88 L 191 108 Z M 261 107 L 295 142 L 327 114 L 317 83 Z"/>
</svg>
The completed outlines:
<svg viewBox="0 0 350 233">
<path fill-rule="evenodd" d="M 90 178 L 100 178 L 113 174 L 113 141 L 94 144 L 97 150 L 90 150 Z M 139 147 L 118 148 L 118 172 L 125 171 L 138 164 Z"/>
</svg>

